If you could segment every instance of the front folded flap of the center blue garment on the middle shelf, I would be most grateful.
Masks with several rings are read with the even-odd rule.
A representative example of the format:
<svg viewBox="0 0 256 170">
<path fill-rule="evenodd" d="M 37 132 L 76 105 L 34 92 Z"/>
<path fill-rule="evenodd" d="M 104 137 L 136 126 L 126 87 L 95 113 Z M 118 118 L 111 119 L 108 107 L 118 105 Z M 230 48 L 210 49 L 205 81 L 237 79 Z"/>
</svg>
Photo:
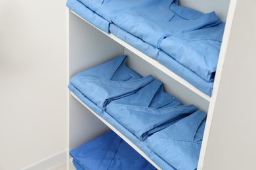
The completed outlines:
<svg viewBox="0 0 256 170">
<path fill-rule="evenodd" d="M 171 126 L 196 111 L 194 105 L 182 105 L 163 109 L 119 105 L 112 102 L 107 112 L 140 140 Z"/>
</svg>

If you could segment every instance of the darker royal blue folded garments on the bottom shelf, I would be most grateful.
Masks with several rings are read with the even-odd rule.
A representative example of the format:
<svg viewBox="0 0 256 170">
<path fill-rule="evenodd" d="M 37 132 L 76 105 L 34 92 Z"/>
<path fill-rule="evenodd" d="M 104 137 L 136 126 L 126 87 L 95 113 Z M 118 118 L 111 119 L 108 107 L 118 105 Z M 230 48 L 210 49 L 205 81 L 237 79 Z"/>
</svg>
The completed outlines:
<svg viewBox="0 0 256 170">
<path fill-rule="evenodd" d="M 76 169 L 156 169 L 114 131 L 70 151 Z"/>
</svg>

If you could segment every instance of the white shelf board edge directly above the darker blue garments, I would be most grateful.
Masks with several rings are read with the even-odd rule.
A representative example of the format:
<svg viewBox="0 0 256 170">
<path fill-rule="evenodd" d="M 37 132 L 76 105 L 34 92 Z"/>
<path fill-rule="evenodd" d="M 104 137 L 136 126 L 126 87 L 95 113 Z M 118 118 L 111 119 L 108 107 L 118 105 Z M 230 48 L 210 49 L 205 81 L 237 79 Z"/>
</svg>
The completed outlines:
<svg viewBox="0 0 256 170">
<path fill-rule="evenodd" d="M 96 112 L 94 112 L 93 110 L 91 110 L 90 107 L 88 107 L 87 105 L 85 105 L 85 103 L 83 103 L 83 101 L 81 101 L 73 92 L 70 92 L 70 94 L 77 99 L 77 101 L 79 101 L 84 107 L 86 107 L 88 110 L 90 110 L 93 114 L 95 114 L 95 116 L 101 120 L 104 124 L 106 124 L 106 126 L 110 127 L 110 129 L 112 129 L 112 131 L 114 131 L 117 135 L 119 135 L 119 137 L 121 137 L 121 139 L 123 139 L 126 143 L 128 143 L 130 146 L 132 146 L 137 152 L 139 152 L 139 154 L 141 156 L 143 156 L 147 161 L 149 161 L 152 165 L 154 165 L 154 167 L 156 167 L 156 169 L 161 169 L 160 167 L 158 167 L 158 165 L 156 165 L 156 163 L 154 163 L 154 161 L 152 161 L 150 158 L 148 158 L 148 156 L 146 156 L 146 154 L 144 154 L 144 152 L 142 150 L 140 150 L 140 148 L 138 148 L 134 143 L 132 143 L 127 137 L 125 137 L 125 135 L 123 135 L 121 132 L 119 132 L 114 126 L 112 126 L 111 124 L 109 124 L 108 122 L 106 122 L 106 120 L 104 120 L 102 117 L 98 116 L 98 114 L 96 114 Z"/>
</svg>

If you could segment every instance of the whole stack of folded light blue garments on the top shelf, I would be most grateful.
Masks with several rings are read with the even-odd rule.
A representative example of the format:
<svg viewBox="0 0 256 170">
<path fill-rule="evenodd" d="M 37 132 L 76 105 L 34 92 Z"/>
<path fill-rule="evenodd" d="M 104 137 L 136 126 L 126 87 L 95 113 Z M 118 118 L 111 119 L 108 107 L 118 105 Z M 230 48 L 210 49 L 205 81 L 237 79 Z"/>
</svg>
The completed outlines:
<svg viewBox="0 0 256 170">
<path fill-rule="evenodd" d="M 211 96 L 224 23 L 177 0 L 68 0 L 76 14 L 112 33 Z"/>
</svg>

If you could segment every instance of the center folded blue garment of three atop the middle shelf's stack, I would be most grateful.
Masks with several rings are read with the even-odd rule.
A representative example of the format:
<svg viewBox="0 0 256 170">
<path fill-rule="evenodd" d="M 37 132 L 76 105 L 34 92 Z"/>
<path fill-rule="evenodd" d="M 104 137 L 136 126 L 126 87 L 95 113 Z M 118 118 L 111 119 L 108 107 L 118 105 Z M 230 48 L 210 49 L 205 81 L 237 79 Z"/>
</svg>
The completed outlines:
<svg viewBox="0 0 256 170">
<path fill-rule="evenodd" d="M 150 82 L 137 93 L 109 103 L 106 112 L 138 139 L 144 140 L 156 131 L 192 114 L 194 105 L 181 105 L 165 92 L 158 80 Z"/>
</svg>

